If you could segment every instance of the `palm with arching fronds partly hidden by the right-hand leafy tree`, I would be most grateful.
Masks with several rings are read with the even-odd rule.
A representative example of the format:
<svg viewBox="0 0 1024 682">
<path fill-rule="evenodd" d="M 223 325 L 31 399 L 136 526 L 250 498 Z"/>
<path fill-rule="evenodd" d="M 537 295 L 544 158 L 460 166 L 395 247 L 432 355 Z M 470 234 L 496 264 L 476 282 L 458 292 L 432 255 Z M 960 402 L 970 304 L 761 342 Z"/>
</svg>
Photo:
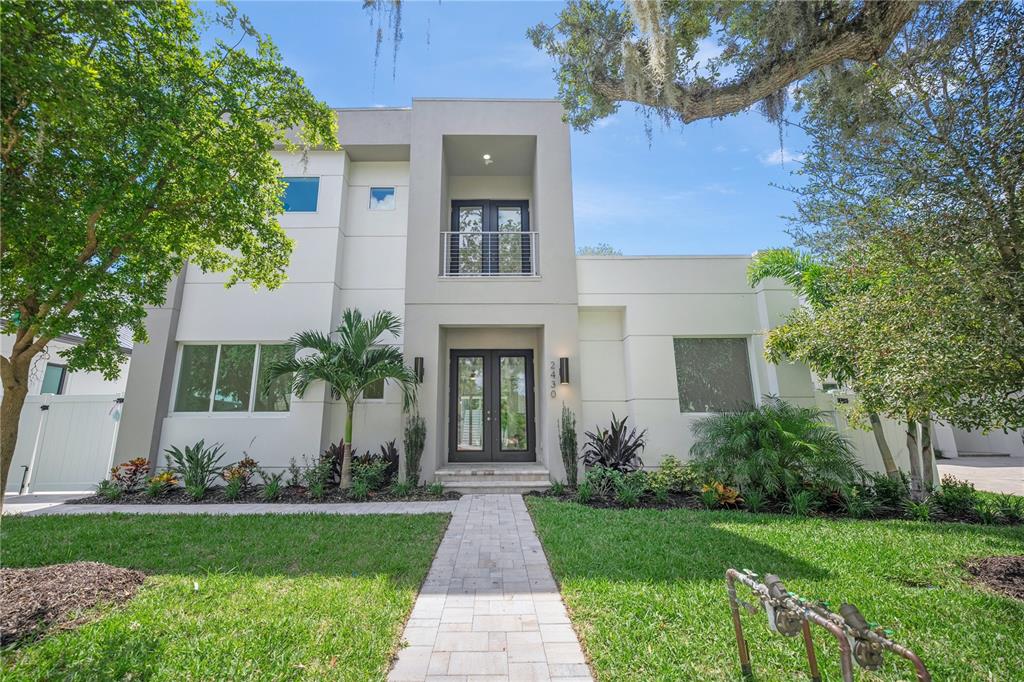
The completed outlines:
<svg viewBox="0 0 1024 682">
<path fill-rule="evenodd" d="M 793 287 L 815 312 L 824 310 L 833 304 L 828 284 L 829 274 L 827 265 L 795 249 L 759 251 L 754 254 L 754 260 L 751 261 L 746 269 L 746 280 L 752 287 L 756 287 L 767 278 L 778 278 Z M 855 383 L 856 380 L 855 368 L 848 361 L 830 363 L 827 367 L 814 367 L 812 369 L 821 376 L 830 376 L 841 384 Z M 886 475 L 893 479 L 899 479 L 899 467 L 896 466 L 896 460 L 893 459 L 886 434 L 882 430 L 882 419 L 874 412 L 869 413 L 867 419 L 871 424 L 874 442 L 882 455 L 882 464 L 886 469 Z M 910 463 L 911 465 L 914 463 L 912 457 Z"/>
</svg>

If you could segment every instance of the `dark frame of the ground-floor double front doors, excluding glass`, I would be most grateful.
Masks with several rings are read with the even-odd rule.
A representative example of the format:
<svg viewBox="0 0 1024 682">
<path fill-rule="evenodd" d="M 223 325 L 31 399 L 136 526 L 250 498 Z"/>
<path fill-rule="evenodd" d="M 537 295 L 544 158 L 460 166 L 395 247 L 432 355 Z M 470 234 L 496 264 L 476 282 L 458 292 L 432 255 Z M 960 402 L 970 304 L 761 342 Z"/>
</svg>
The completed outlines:
<svg viewBox="0 0 1024 682">
<path fill-rule="evenodd" d="M 483 358 L 483 411 L 481 422 L 483 450 L 462 452 L 458 450 L 458 397 L 460 357 Z M 508 451 L 501 449 L 501 381 L 500 363 L 502 357 L 524 357 L 526 360 L 526 450 Z M 529 348 L 458 348 L 449 356 L 449 462 L 536 462 L 537 461 L 537 420 L 534 408 L 534 351 Z M 486 416 L 489 412 L 495 417 Z"/>
</svg>

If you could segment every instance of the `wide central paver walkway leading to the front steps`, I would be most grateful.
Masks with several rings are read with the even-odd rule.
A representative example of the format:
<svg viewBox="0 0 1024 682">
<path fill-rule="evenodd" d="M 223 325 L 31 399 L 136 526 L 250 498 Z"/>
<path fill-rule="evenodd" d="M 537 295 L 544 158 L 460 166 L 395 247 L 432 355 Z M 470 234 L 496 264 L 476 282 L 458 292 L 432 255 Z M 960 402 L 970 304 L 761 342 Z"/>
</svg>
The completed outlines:
<svg viewBox="0 0 1024 682">
<path fill-rule="evenodd" d="M 467 495 L 406 625 L 392 682 L 593 678 L 518 495 Z"/>
</svg>

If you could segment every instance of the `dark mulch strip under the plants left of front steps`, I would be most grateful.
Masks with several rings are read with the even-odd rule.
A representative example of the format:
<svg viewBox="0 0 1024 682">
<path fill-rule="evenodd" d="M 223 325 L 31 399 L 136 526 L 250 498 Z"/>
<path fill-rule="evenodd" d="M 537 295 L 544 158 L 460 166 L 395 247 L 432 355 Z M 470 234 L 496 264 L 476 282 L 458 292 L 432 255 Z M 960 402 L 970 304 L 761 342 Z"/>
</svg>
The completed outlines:
<svg viewBox="0 0 1024 682">
<path fill-rule="evenodd" d="M 281 488 L 281 494 L 276 500 L 267 501 L 263 499 L 263 494 L 258 486 L 254 486 L 243 493 L 236 500 L 228 500 L 224 497 L 223 487 L 211 487 L 207 491 L 206 497 L 202 500 L 193 500 L 185 493 L 183 487 L 176 487 L 173 491 L 151 498 L 144 492 L 122 495 L 117 500 L 108 500 L 99 495 L 90 495 L 78 500 L 69 500 L 70 505 L 252 505 L 252 504 L 345 504 L 356 502 L 438 502 L 443 500 L 458 500 L 462 496 L 455 492 L 446 492 L 441 496 L 431 495 L 426 488 L 417 488 L 408 497 L 391 495 L 387 491 L 371 493 L 366 500 L 352 500 L 344 492 L 337 487 L 328 488 L 322 500 L 313 500 L 306 494 L 306 488 L 290 485 Z"/>
</svg>

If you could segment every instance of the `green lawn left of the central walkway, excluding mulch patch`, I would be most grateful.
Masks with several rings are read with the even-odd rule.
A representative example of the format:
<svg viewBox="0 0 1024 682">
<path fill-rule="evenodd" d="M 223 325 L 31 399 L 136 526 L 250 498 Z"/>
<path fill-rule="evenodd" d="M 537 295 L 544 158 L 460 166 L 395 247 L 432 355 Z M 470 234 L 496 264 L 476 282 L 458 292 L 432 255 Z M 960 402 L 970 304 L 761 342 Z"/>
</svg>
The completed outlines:
<svg viewBox="0 0 1024 682">
<path fill-rule="evenodd" d="M 135 598 L 6 651 L 14 680 L 373 680 L 386 675 L 447 517 L 3 519 L 3 565 L 102 561 Z M 198 587 L 197 587 L 198 586 Z"/>
</svg>

